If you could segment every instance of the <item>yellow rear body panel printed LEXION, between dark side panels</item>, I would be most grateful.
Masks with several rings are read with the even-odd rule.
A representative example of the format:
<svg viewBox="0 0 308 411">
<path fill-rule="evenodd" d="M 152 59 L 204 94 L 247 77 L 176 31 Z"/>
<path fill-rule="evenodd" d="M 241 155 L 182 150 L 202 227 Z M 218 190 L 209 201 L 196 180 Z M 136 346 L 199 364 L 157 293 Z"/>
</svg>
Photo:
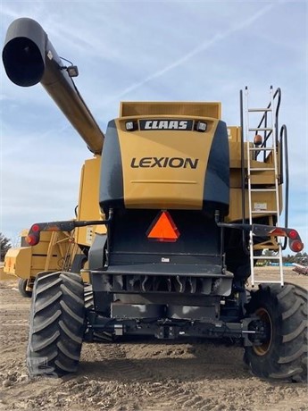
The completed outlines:
<svg viewBox="0 0 308 411">
<path fill-rule="evenodd" d="M 159 130 L 159 132 L 139 130 L 131 133 L 125 129 L 124 120 L 116 121 L 121 147 L 126 207 L 202 208 L 204 175 L 212 138 L 218 124 L 214 119 L 203 120 L 207 123 L 206 133 L 177 130 Z M 185 138 L 180 138 L 181 132 L 185 133 Z M 154 157 L 180 157 L 193 161 L 198 159 L 197 169 L 188 166 L 169 168 L 166 178 L 166 173 L 162 177 L 162 168 L 147 166 L 151 160 L 145 160 L 147 162 L 145 168 L 131 167 L 132 158 L 136 158 L 137 164 L 142 161 L 140 159 Z"/>
</svg>

